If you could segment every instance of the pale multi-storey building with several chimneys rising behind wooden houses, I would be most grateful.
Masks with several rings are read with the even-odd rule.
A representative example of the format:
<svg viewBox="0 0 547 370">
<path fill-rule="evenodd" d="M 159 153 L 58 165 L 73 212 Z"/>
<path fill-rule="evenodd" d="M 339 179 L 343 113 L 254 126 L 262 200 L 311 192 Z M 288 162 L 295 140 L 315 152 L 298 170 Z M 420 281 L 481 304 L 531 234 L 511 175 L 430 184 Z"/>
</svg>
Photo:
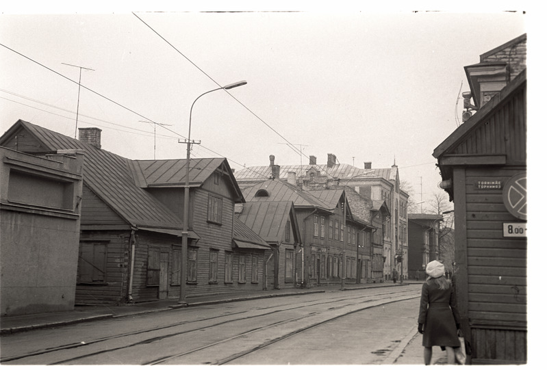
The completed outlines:
<svg viewBox="0 0 547 370">
<path fill-rule="evenodd" d="M 372 168 L 371 162 L 365 162 L 364 168 L 357 168 L 344 163 L 338 163 L 336 156 L 327 155 L 327 164 L 317 164 L 315 156 L 309 156 L 307 165 L 280 166 L 275 164 L 275 156 L 270 155 L 270 166 L 254 166 L 236 171 L 234 176 L 240 187 L 260 183 L 272 177 L 272 170 L 277 176 L 291 185 L 305 190 L 336 189 L 337 187 L 351 187 L 361 198 L 375 202 L 378 208 L 374 216 L 381 209 L 381 202 L 385 202 L 385 211 L 382 211 L 381 224 L 382 243 L 382 275 L 380 280 L 390 279 L 392 270 L 402 271 L 408 276 L 408 241 L 407 241 L 407 204 L 409 195 L 400 189 L 398 167 L 394 164 L 390 168 Z M 353 209 L 355 204 L 348 200 Z M 355 200 L 354 200 L 355 202 Z M 370 222 L 372 213 L 365 219 Z M 377 234 L 375 234 L 377 235 Z M 377 239 L 376 242 L 378 243 Z M 401 256 L 398 262 L 398 256 Z M 378 265 L 378 260 L 372 265 Z M 378 268 L 375 267 L 375 268 Z"/>
</svg>

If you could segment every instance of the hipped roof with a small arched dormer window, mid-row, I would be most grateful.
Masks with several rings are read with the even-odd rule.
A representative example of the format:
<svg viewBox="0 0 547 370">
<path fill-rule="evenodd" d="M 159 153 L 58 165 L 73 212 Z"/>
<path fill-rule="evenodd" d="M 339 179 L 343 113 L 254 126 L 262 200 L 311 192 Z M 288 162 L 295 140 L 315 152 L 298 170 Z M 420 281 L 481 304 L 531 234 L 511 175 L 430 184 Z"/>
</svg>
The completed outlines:
<svg viewBox="0 0 547 370">
<path fill-rule="evenodd" d="M 267 196 L 255 196 L 257 191 L 262 191 Z M 243 189 L 243 196 L 247 202 L 293 202 L 295 208 L 318 208 L 324 211 L 332 211 L 333 208 L 326 202 L 303 191 L 286 181 L 279 179 L 267 180 Z"/>
</svg>

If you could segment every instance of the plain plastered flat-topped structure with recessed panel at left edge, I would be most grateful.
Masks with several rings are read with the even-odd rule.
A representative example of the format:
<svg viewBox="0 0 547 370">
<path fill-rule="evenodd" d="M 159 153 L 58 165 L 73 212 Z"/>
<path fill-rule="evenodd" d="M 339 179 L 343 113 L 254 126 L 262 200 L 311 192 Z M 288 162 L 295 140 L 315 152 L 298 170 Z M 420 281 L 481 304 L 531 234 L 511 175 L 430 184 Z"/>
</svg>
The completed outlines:
<svg viewBox="0 0 547 370">
<path fill-rule="evenodd" d="M 83 157 L 0 146 L 0 315 L 74 308 Z"/>
</svg>

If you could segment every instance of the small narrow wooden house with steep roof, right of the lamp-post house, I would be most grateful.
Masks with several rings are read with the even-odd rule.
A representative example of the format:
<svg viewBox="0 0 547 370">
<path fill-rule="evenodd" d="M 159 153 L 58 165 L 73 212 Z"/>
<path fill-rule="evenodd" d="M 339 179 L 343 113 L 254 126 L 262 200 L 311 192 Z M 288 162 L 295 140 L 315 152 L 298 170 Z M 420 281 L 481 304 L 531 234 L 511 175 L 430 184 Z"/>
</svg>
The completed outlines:
<svg viewBox="0 0 547 370">
<path fill-rule="evenodd" d="M 301 284 L 296 255 L 303 253 L 296 211 L 291 201 L 245 202 L 236 211 L 241 222 L 269 244 L 264 290 L 292 288 Z"/>
</svg>

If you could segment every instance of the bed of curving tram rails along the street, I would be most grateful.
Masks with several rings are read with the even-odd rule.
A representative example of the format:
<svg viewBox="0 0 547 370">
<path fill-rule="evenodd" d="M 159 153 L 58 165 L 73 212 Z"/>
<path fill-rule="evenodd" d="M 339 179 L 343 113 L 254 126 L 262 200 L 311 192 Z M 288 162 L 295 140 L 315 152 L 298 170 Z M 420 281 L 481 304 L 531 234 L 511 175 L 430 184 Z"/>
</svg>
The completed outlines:
<svg viewBox="0 0 547 370">
<path fill-rule="evenodd" d="M 297 300 L 268 298 L 268 305 L 259 308 L 242 309 L 244 305 L 237 304 L 235 308 L 239 309 L 234 312 L 0 357 L 0 362 L 4 365 L 224 365 L 340 317 L 419 296 L 416 289 L 399 288 L 370 295 L 346 291 L 344 295 L 301 295 Z"/>
</svg>

